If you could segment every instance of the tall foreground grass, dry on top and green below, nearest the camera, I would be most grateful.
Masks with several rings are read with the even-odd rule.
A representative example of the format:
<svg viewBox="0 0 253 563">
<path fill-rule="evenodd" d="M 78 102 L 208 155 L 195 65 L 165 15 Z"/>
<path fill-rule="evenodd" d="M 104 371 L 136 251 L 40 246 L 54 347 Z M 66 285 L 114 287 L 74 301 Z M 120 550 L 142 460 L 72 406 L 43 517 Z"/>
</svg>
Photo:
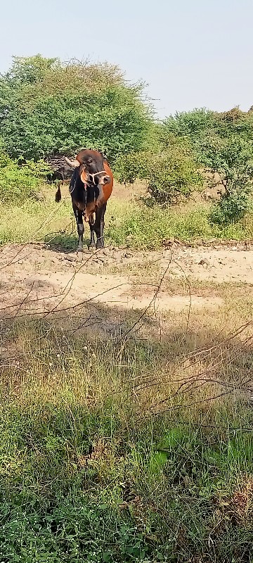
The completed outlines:
<svg viewBox="0 0 253 563">
<path fill-rule="evenodd" d="M 229 315 L 227 331 L 233 303 Z M 185 363 L 219 334 L 222 315 L 209 336 L 207 321 L 186 336 L 172 320 L 164 343 L 147 333 L 123 349 L 74 339 L 71 319 L 3 336 L 15 354 L 1 368 L 1 561 L 252 560 L 252 415 L 238 389 L 253 358 L 238 341 Z"/>
</svg>

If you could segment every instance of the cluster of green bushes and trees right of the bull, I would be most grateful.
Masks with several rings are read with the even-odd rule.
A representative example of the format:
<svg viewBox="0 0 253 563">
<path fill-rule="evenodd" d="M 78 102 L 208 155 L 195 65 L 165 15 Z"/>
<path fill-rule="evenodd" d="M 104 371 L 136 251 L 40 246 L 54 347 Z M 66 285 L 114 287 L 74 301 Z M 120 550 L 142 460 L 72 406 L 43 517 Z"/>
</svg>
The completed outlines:
<svg viewBox="0 0 253 563">
<path fill-rule="evenodd" d="M 154 147 L 154 148 L 153 148 Z M 119 157 L 120 181 L 145 179 L 153 199 L 174 203 L 201 184 L 199 170 L 219 173 L 223 193 L 209 220 L 228 224 L 249 210 L 253 178 L 253 113 L 205 108 L 170 116 L 156 126 L 152 148 Z"/>
</svg>

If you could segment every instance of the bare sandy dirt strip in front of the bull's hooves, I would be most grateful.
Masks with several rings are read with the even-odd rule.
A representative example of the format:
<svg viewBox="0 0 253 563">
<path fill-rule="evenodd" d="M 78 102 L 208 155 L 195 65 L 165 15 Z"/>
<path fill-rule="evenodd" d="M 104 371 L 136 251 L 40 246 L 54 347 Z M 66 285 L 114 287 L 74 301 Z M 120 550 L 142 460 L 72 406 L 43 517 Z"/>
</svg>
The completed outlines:
<svg viewBox="0 0 253 563">
<path fill-rule="evenodd" d="M 188 307 L 188 294 L 168 290 L 168 280 L 177 279 L 188 284 L 192 279 L 210 281 L 212 286 L 252 284 L 253 250 L 240 245 L 171 244 L 162 251 L 110 247 L 77 255 L 41 243 L 5 246 L 0 252 L 1 316 L 17 315 L 28 305 L 35 312 L 49 313 L 88 302 L 124 310 L 150 306 L 181 311 Z M 195 291 L 191 296 L 192 308 L 215 309 L 220 304 L 214 289 L 210 295 Z"/>
</svg>

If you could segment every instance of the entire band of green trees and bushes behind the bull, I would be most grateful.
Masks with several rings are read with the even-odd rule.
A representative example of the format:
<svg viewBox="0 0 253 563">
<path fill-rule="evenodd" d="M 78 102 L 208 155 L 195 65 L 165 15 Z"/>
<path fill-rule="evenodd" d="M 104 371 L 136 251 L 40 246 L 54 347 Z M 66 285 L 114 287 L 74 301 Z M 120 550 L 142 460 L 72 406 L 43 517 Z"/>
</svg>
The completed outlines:
<svg viewBox="0 0 253 563">
<path fill-rule="evenodd" d="M 86 146 L 107 153 L 120 182 L 144 180 L 151 202 L 176 203 L 202 184 L 200 170 L 211 170 L 224 189 L 210 222 L 235 222 L 249 209 L 252 110 L 200 108 L 155 122 L 143 85 L 126 82 L 117 66 L 65 65 L 37 55 L 14 58 L 0 76 L 0 118 L 0 138 L 13 159 L 2 175 L 2 201 L 33 193 L 41 169 L 32 161 Z M 27 160 L 22 171 L 20 158 Z"/>
</svg>

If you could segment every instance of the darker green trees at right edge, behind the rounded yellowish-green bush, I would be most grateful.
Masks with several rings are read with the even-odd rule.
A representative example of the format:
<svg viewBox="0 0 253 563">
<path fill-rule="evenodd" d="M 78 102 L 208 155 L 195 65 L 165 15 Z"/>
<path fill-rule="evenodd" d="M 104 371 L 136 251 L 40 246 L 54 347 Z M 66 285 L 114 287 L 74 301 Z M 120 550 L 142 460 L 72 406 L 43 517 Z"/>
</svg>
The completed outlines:
<svg viewBox="0 0 253 563">
<path fill-rule="evenodd" d="M 252 193 L 252 110 L 214 113 L 196 109 L 170 116 L 163 127 L 167 134 L 190 144 L 199 165 L 219 173 L 224 189 L 209 215 L 211 222 L 240 220 L 249 209 Z"/>
</svg>

